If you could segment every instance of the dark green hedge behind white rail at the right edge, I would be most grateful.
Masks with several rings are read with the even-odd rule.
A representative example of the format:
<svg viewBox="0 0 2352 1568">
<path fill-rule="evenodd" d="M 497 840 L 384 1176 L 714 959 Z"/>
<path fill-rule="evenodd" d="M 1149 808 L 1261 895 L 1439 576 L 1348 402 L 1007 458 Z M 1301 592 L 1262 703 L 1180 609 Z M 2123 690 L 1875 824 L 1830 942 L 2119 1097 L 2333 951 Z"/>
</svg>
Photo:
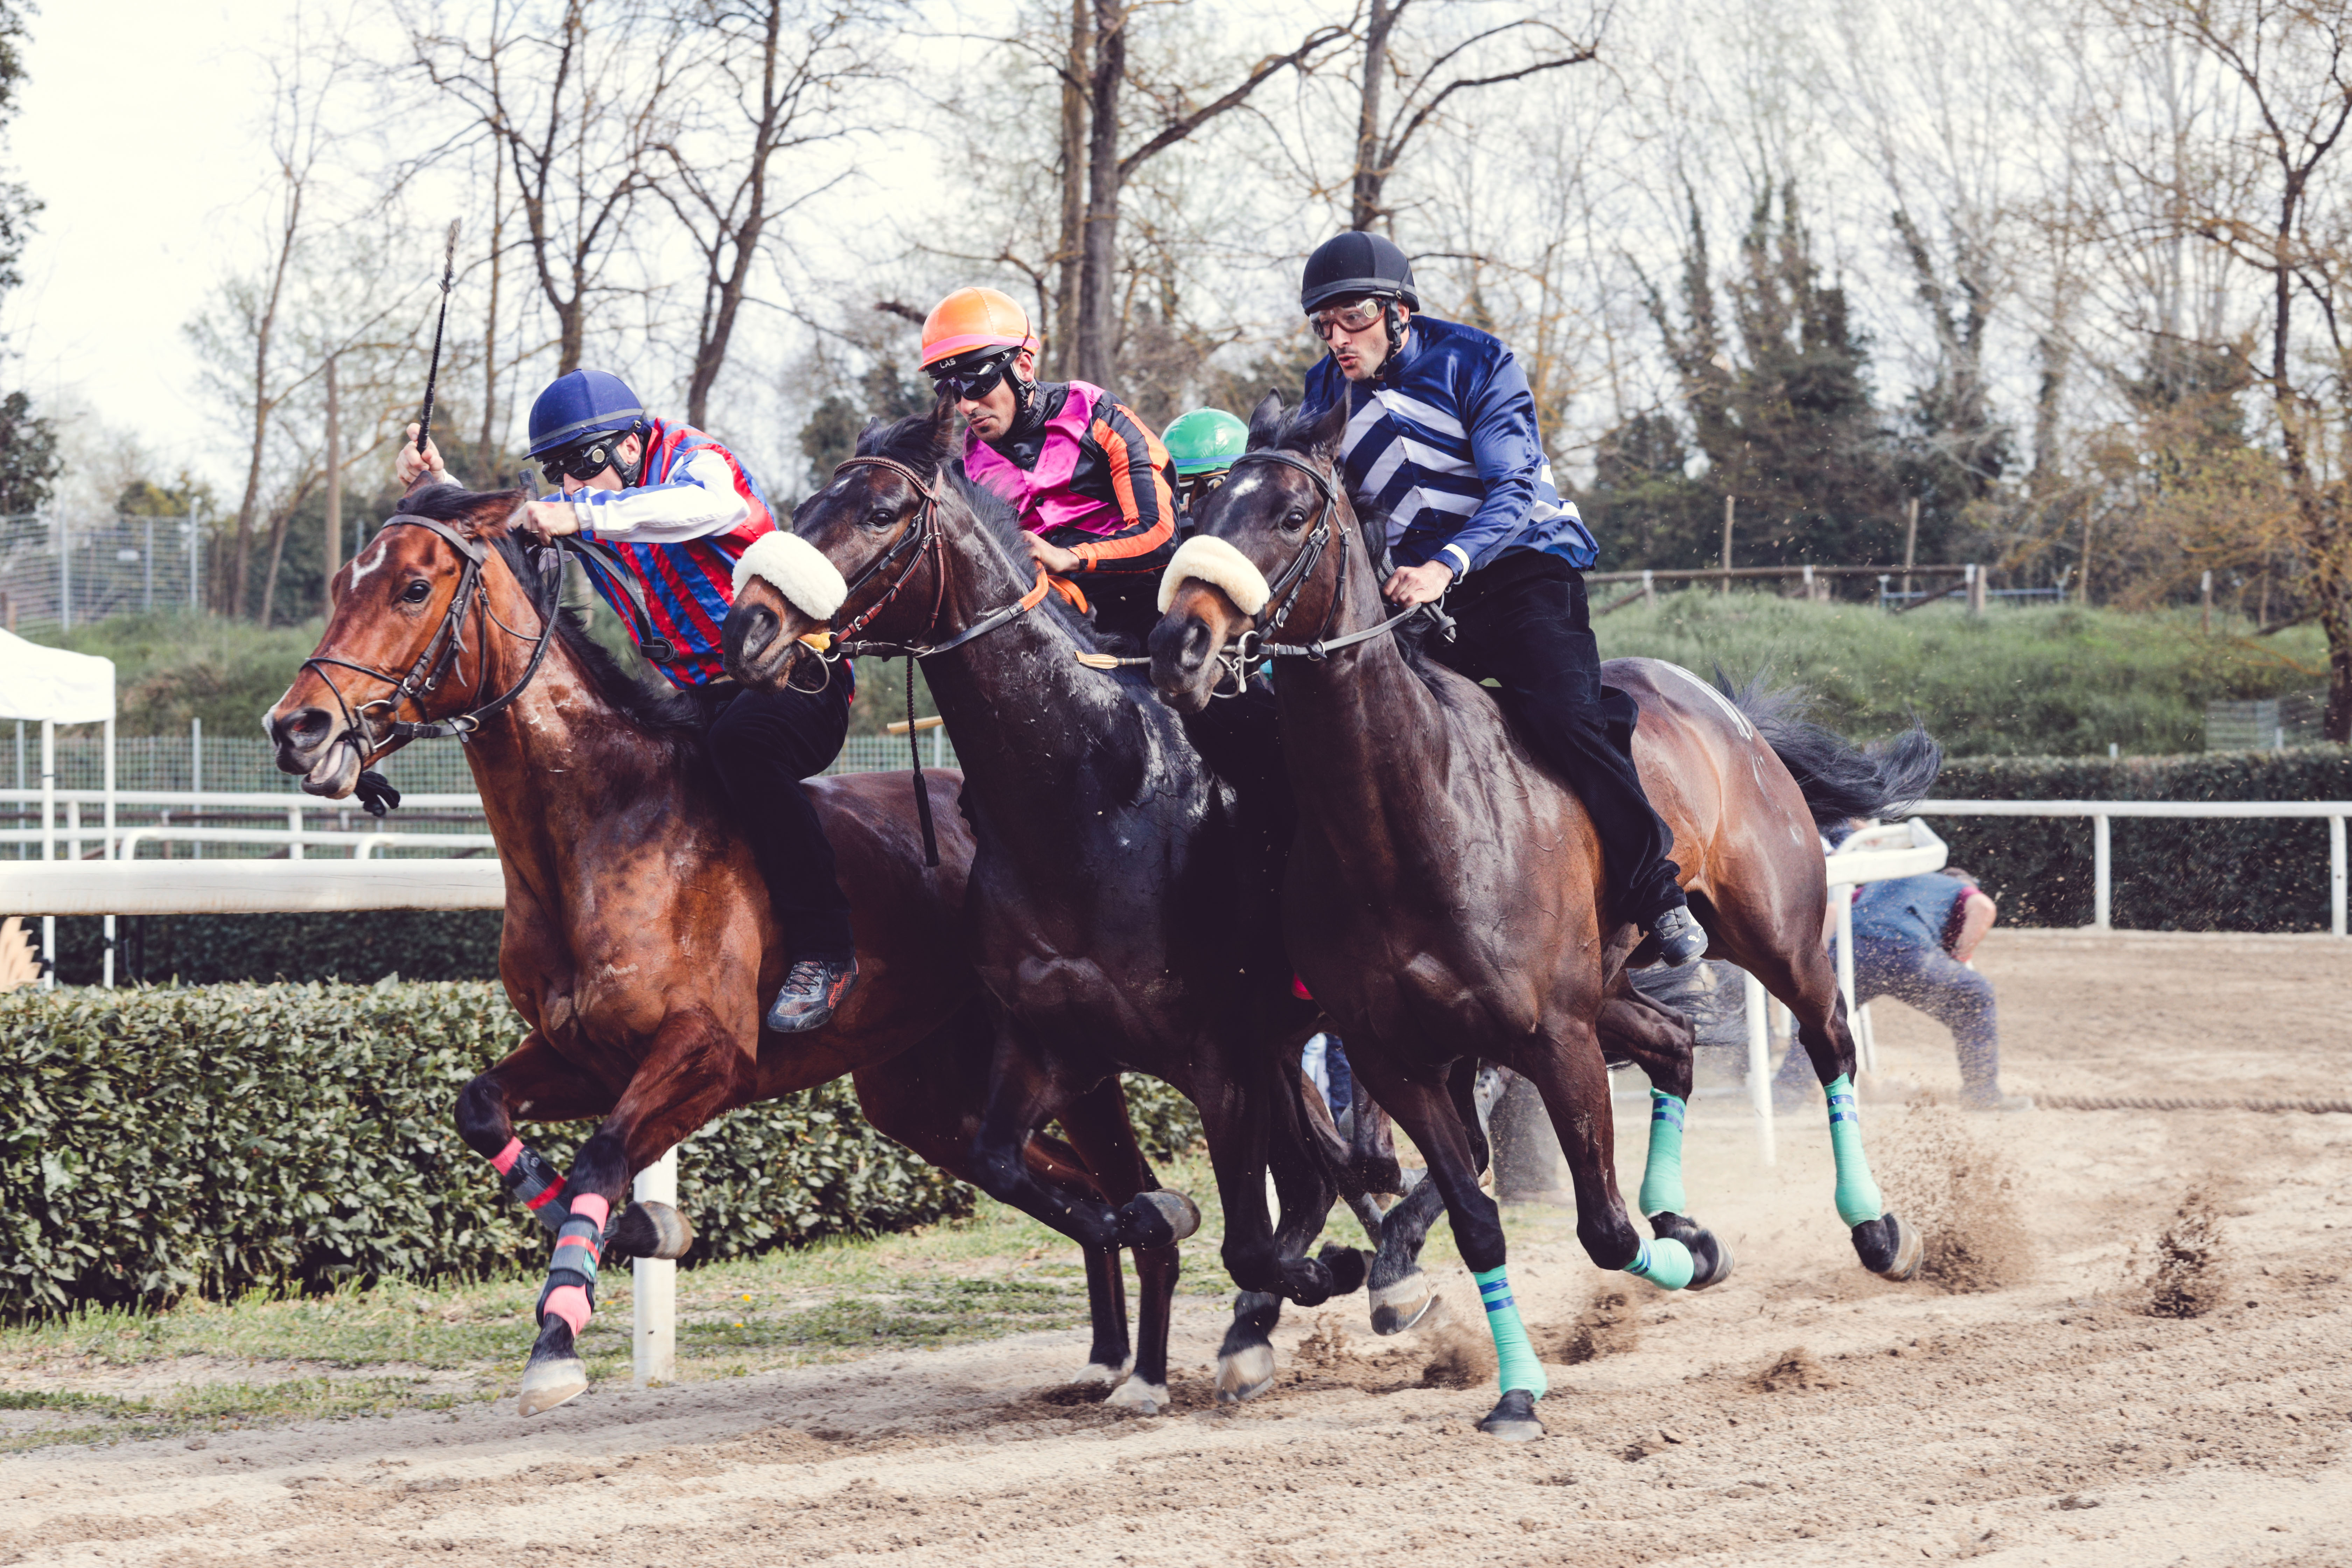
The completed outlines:
<svg viewBox="0 0 2352 1568">
<path fill-rule="evenodd" d="M 1943 799 L 2352 799 L 2352 750 L 2201 757 L 1957 757 Z M 2013 926 L 2086 926 L 2091 818 L 1933 823 Z M 2112 922 L 2129 931 L 2326 931 L 2328 825 L 2112 818 Z"/>
</svg>

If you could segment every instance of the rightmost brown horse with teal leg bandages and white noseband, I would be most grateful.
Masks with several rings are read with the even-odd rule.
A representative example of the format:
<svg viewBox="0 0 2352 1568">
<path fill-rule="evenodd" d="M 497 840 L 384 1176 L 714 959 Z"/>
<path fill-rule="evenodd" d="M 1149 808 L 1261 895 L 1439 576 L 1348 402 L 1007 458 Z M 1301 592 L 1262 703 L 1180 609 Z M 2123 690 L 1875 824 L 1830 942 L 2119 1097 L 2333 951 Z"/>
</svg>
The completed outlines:
<svg viewBox="0 0 2352 1568">
<path fill-rule="evenodd" d="M 1529 1439 L 1543 1432 L 1543 1368 L 1510 1298 L 1496 1204 L 1477 1187 L 1475 1133 L 1446 1093 L 1449 1065 L 1498 1060 L 1543 1093 L 1592 1262 L 1684 1288 L 1708 1260 L 1672 1227 L 1642 1241 L 1616 1190 L 1597 1020 L 1639 933 L 1604 919 L 1592 823 L 1477 684 L 1399 649 L 1404 618 L 1383 614 L 1376 557 L 1336 470 L 1345 418 L 1341 404 L 1301 425 L 1279 397 L 1256 409 L 1251 451 L 1164 574 L 1152 682 L 1171 705 L 1200 710 L 1221 679 L 1272 658 L 1301 802 L 1289 950 L 1357 1074 L 1428 1159 L 1479 1281 L 1503 1382 L 1479 1427 Z M 1853 1114 L 1853 1037 L 1820 945 L 1816 825 L 1924 792 L 1940 764 L 1933 741 L 1915 729 L 1882 762 L 1823 752 L 1823 731 L 1759 726 L 1679 665 L 1611 661 L 1604 675 L 1639 708 L 1635 762 L 1675 832 L 1710 952 L 1797 1016 L 1828 1088 L 1837 1211 L 1856 1253 L 1877 1274 L 1912 1276 L 1919 1237 L 1879 1201 Z M 1802 783 L 1776 736 L 1804 743 L 1790 745 Z M 1679 1152 L 1679 1124 L 1682 1105 L 1656 1095 L 1653 1154 L 1661 1135 Z"/>
</svg>

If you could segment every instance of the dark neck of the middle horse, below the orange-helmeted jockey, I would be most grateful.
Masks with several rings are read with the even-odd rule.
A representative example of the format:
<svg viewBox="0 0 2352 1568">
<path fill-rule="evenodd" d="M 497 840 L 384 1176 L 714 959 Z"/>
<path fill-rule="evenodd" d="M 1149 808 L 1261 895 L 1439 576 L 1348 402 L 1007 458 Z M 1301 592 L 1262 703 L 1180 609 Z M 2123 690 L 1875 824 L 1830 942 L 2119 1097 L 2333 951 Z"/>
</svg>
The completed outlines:
<svg viewBox="0 0 2352 1568">
<path fill-rule="evenodd" d="M 976 517 L 943 527 L 948 571 L 936 639 L 981 621 L 1035 588 L 1035 569 L 1014 557 Z M 1073 811 L 1082 799 L 1134 799 L 1152 752 L 1150 719 L 1134 693 L 1077 663 L 1077 644 L 1047 604 L 1014 616 L 960 649 L 924 661 L 938 717 L 993 827 L 1023 849 L 1068 858 Z M 1122 769 L 1120 764 L 1127 764 Z M 1122 773 L 1131 771 L 1134 778 Z M 1096 827 L 1091 816 L 1080 827 Z"/>
</svg>

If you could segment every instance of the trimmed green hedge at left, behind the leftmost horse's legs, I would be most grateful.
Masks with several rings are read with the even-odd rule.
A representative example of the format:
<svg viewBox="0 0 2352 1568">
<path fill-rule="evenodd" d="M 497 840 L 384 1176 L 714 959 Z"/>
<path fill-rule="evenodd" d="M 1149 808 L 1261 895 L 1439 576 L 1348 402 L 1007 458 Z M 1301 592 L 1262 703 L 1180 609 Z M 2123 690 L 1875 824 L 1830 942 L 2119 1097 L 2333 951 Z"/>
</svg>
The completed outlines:
<svg viewBox="0 0 2352 1568">
<path fill-rule="evenodd" d="M 454 1124 L 517 1034 L 482 983 L 0 997 L 0 1316 L 539 1262 L 536 1222 Z M 1174 1091 L 1129 1093 L 1162 1154 L 1190 1143 Z M 586 1131 L 529 1138 L 564 1164 Z M 689 1262 L 971 1208 L 866 1126 L 847 1079 L 724 1117 L 680 1166 Z"/>
</svg>

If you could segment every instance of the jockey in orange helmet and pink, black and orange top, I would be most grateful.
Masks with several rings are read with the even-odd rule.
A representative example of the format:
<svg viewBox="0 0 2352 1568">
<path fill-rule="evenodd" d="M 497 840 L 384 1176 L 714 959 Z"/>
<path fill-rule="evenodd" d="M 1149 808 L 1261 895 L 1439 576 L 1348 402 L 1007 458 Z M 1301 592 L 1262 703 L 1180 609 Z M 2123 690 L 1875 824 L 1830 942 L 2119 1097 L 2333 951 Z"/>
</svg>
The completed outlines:
<svg viewBox="0 0 2352 1568">
<path fill-rule="evenodd" d="M 1018 512 L 1030 559 L 1148 630 L 1176 550 L 1169 454 L 1150 425 L 1087 381 L 1037 381 L 1028 315 L 995 289 L 938 301 L 922 369 L 964 416 L 964 475 Z"/>
</svg>

